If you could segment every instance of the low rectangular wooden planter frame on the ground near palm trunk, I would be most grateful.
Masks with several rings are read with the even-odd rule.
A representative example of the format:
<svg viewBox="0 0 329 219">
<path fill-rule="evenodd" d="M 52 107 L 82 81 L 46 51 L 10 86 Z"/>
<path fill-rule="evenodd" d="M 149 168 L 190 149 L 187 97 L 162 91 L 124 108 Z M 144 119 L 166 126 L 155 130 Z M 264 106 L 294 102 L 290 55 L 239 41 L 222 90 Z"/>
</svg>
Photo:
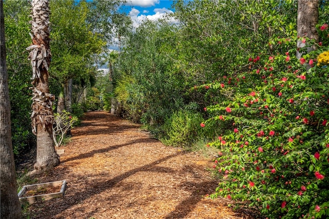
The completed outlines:
<svg viewBox="0 0 329 219">
<path fill-rule="evenodd" d="M 38 194 L 38 195 L 23 197 L 25 192 L 28 190 L 38 190 L 40 188 L 56 187 L 56 186 L 60 186 L 60 185 L 61 185 L 61 190 L 59 192 L 48 193 L 48 194 Z M 19 199 L 21 202 L 28 202 L 29 204 L 32 204 L 38 200 L 50 200 L 51 198 L 62 197 L 64 195 L 65 187 L 66 187 L 66 180 L 50 182 L 50 183 L 27 185 L 27 186 L 23 186 L 23 188 L 21 189 L 21 191 L 19 192 L 18 195 L 19 195 Z"/>
</svg>

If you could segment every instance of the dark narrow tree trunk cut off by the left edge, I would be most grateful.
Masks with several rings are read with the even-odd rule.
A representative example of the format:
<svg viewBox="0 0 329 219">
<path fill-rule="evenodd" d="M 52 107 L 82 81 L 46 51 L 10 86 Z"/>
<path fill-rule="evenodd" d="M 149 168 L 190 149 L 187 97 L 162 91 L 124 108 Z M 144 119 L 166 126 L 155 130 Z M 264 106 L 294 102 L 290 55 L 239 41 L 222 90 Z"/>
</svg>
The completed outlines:
<svg viewBox="0 0 329 219">
<path fill-rule="evenodd" d="M 3 1 L 0 1 L 0 218 L 22 218 L 17 196 L 14 155 L 11 143 L 10 102 L 6 64 L 5 22 Z"/>
</svg>

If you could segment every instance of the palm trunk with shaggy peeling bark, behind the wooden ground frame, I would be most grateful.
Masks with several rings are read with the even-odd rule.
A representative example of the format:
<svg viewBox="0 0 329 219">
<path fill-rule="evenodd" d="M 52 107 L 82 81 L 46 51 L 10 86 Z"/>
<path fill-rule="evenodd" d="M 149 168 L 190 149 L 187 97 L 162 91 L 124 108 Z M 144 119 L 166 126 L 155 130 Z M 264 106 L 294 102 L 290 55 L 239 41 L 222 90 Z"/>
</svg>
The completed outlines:
<svg viewBox="0 0 329 219">
<path fill-rule="evenodd" d="M 29 59 L 32 65 L 32 131 L 36 134 L 36 170 L 47 170 L 59 165 L 59 155 L 56 153 L 52 140 L 52 125 L 54 123 L 52 102 L 55 97 L 49 93 L 48 66 L 50 64 L 49 47 L 49 0 L 32 0 L 32 30 L 30 36 L 33 44 Z"/>
</svg>

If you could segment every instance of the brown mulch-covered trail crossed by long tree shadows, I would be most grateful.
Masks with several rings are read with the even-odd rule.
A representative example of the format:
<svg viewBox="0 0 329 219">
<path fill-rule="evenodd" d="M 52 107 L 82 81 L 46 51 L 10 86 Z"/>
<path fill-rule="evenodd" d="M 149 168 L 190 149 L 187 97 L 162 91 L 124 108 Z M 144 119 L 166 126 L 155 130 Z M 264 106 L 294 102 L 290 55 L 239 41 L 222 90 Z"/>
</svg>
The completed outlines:
<svg viewBox="0 0 329 219">
<path fill-rule="evenodd" d="M 252 218 L 211 200 L 212 162 L 167 147 L 106 112 L 85 114 L 62 147 L 61 164 L 38 183 L 67 181 L 65 195 L 38 201 L 30 218 Z"/>
</svg>

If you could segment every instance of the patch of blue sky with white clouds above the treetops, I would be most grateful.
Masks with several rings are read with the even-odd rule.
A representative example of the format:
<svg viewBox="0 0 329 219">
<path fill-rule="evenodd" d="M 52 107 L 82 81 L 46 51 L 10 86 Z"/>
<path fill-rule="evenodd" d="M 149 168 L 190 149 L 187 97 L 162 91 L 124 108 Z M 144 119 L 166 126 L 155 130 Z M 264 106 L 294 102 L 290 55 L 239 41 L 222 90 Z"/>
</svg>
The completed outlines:
<svg viewBox="0 0 329 219">
<path fill-rule="evenodd" d="M 127 0 L 124 10 L 132 18 L 134 27 L 138 27 L 143 19 L 154 21 L 172 13 L 172 3 L 171 0 Z"/>
</svg>

